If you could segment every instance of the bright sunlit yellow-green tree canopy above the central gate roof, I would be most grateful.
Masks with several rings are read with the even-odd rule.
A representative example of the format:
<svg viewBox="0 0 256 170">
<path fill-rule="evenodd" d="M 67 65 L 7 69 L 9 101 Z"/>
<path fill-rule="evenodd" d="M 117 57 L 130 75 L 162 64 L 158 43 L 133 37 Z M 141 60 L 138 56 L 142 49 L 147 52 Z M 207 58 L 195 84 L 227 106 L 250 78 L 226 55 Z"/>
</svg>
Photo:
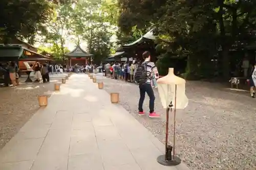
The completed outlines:
<svg viewBox="0 0 256 170">
<path fill-rule="evenodd" d="M 94 62 L 100 62 L 111 53 L 115 34 L 117 15 L 113 16 L 115 6 L 112 2 L 101 1 L 70 1 L 58 4 L 47 22 L 45 29 L 37 31 L 37 41 L 52 44 L 55 56 L 63 58 L 67 43 L 87 45 L 87 52 L 95 55 Z M 115 24 L 114 24 L 115 23 Z"/>
</svg>

